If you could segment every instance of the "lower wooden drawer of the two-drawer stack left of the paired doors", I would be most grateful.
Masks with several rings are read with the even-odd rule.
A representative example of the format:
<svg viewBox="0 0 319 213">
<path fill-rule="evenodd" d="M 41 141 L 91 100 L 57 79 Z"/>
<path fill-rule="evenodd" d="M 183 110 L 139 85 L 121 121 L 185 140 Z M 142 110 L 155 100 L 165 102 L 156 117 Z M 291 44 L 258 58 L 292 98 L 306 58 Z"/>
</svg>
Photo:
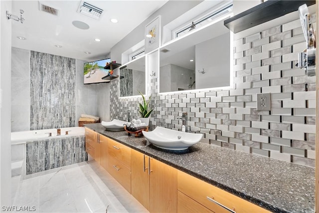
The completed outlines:
<svg viewBox="0 0 319 213">
<path fill-rule="evenodd" d="M 131 193 L 131 170 L 113 157 L 108 159 L 108 172 Z"/>
</svg>

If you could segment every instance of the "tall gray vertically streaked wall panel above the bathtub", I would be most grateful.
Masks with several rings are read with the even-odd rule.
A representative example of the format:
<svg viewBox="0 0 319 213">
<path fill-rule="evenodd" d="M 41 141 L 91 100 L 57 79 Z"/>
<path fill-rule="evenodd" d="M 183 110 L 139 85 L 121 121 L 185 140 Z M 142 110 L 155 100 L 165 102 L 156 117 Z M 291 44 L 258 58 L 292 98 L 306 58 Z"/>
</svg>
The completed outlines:
<svg viewBox="0 0 319 213">
<path fill-rule="evenodd" d="M 30 52 L 30 129 L 75 126 L 75 59 Z"/>
</svg>

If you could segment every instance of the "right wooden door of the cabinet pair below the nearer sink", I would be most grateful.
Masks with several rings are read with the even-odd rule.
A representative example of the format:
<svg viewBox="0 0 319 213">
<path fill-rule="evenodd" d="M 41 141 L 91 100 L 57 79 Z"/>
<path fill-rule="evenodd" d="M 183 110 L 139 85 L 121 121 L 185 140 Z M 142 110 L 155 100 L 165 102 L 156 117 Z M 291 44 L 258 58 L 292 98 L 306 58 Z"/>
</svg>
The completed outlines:
<svg viewBox="0 0 319 213">
<path fill-rule="evenodd" d="M 177 170 L 151 158 L 150 208 L 151 213 L 177 211 Z"/>
</svg>

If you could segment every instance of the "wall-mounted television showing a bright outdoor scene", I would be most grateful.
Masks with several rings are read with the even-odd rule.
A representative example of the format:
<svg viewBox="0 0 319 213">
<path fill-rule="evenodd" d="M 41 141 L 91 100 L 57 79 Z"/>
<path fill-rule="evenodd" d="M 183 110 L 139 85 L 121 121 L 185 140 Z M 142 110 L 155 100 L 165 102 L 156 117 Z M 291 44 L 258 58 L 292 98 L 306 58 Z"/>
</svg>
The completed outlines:
<svg viewBox="0 0 319 213">
<path fill-rule="evenodd" d="M 104 69 L 107 62 L 110 63 L 111 58 L 84 63 L 84 84 L 110 82 L 110 80 L 102 79 L 110 71 L 109 69 Z"/>
</svg>

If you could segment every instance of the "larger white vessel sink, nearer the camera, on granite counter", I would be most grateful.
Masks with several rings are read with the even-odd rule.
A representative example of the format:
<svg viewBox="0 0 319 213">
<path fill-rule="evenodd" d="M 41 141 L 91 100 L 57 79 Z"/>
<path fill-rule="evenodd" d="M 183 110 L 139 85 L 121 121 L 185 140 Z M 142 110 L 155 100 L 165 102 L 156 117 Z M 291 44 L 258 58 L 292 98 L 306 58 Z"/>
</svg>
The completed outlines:
<svg viewBox="0 0 319 213">
<path fill-rule="evenodd" d="M 163 127 L 156 127 L 153 131 L 142 131 L 142 133 L 154 146 L 167 150 L 185 150 L 198 143 L 203 137 L 202 134 L 179 132 Z"/>
</svg>

